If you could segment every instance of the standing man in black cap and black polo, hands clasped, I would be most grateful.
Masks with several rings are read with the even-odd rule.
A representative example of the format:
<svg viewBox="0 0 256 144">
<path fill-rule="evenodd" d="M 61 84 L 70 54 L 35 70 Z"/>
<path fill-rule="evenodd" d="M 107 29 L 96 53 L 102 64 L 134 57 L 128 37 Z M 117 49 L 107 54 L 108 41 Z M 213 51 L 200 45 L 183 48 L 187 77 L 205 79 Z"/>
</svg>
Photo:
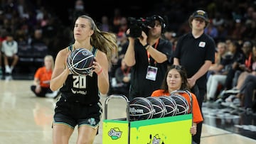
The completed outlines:
<svg viewBox="0 0 256 144">
<path fill-rule="evenodd" d="M 196 94 L 200 109 L 206 94 L 206 75 L 210 65 L 215 61 L 215 42 L 203 33 L 209 19 L 206 11 L 195 11 L 188 19 L 191 33 L 181 36 L 174 52 L 174 65 L 182 65 L 188 74 L 188 84 Z M 197 125 L 193 141 L 200 143 L 202 122 Z"/>
</svg>

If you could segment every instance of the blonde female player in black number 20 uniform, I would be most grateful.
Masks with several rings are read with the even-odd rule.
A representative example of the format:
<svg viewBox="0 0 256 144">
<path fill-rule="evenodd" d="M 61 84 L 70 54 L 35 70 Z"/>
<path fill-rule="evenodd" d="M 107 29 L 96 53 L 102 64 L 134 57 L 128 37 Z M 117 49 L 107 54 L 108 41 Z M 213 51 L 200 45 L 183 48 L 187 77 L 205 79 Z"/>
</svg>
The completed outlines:
<svg viewBox="0 0 256 144">
<path fill-rule="evenodd" d="M 89 16 L 79 16 L 74 27 L 75 43 L 58 52 L 50 89 L 60 89 L 53 120 L 53 143 L 68 144 L 78 126 L 77 144 L 92 144 L 97 135 L 102 105 L 100 93 L 107 94 L 111 53 L 117 49 L 113 33 L 100 31 Z M 91 74 L 74 75 L 67 68 L 67 57 L 76 48 L 86 48 L 95 55 Z"/>
</svg>

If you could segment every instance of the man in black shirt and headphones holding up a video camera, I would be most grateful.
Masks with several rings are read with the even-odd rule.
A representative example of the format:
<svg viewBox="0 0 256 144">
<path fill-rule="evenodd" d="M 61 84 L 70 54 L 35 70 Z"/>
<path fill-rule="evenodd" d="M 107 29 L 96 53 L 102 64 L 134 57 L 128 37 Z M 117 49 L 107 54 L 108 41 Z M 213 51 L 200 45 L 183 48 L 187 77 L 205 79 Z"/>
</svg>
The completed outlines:
<svg viewBox="0 0 256 144">
<path fill-rule="evenodd" d="M 150 96 L 161 87 L 167 67 L 172 64 L 172 43 L 161 38 L 166 23 L 161 16 L 151 16 L 151 26 L 146 26 L 138 38 L 127 30 L 129 44 L 124 55 L 127 66 L 132 67 L 129 100 Z"/>
</svg>

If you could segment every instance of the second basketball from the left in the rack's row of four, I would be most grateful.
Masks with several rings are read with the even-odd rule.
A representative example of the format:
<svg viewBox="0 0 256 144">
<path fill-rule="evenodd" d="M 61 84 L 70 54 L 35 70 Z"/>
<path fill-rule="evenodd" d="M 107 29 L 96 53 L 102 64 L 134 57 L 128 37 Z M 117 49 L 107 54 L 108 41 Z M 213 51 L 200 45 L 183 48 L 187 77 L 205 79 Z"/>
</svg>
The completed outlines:
<svg viewBox="0 0 256 144">
<path fill-rule="evenodd" d="M 159 97 L 153 97 L 153 96 L 149 96 L 146 97 L 146 99 L 149 99 L 149 101 L 151 102 L 153 109 L 154 109 L 154 113 L 153 113 L 153 117 L 152 118 L 162 118 L 164 117 L 166 108 L 164 106 L 164 102 L 161 101 L 161 99 L 159 99 Z"/>
</svg>

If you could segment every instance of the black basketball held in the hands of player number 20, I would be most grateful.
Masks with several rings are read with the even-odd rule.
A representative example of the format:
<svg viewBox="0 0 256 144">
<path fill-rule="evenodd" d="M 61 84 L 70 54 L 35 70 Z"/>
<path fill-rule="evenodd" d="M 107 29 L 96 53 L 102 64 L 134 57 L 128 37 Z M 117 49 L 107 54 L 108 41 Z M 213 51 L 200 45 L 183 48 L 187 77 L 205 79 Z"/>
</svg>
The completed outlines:
<svg viewBox="0 0 256 144">
<path fill-rule="evenodd" d="M 92 72 L 94 55 L 86 48 L 78 48 L 68 55 L 68 68 L 72 74 L 87 75 Z"/>
</svg>

